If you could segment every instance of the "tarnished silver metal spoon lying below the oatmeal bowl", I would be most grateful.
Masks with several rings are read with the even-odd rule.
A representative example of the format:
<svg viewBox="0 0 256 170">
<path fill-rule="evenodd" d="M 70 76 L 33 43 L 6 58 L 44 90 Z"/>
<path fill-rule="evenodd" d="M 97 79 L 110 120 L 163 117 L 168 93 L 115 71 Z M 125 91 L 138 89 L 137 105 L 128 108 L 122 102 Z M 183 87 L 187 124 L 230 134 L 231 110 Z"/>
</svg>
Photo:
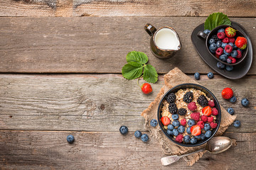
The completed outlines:
<svg viewBox="0 0 256 170">
<path fill-rule="evenodd" d="M 192 152 L 189 154 L 195 154 L 197 152 L 202 152 L 204 150 L 207 150 L 211 154 L 218 154 L 218 153 L 224 152 L 225 150 L 230 148 L 231 145 L 232 145 L 232 140 L 230 140 L 230 138 L 228 138 L 228 137 L 223 137 L 223 136 L 213 137 L 209 142 L 207 142 L 206 148 L 200 149 L 196 152 Z M 173 156 L 169 156 L 169 157 L 163 157 L 163 158 L 161 158 L 161 164 L 164 166 L 167 166 L 169 164 L 177 162 L 178 159 L 181 159 L 182 157 L 186 157 L 189 154 L 183 154 L 180 156 L 173 155 Z"/>
</svg>

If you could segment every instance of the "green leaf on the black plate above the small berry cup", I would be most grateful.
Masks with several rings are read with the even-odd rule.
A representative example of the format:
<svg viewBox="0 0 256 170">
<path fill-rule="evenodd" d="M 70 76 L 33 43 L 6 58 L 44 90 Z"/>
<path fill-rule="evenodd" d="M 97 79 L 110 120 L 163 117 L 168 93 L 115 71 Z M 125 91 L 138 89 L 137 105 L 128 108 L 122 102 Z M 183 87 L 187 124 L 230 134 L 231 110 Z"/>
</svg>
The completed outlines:
<svg viewBox="0 0 256 170">
<path fill-rule="evenodd" d="M 204 29 L 213 30 L 217 26 L 228 25 L 231 26 L 231 21 L 227 15 L 223 13 L 212 13 L 206 19 Z"/>
</svg>

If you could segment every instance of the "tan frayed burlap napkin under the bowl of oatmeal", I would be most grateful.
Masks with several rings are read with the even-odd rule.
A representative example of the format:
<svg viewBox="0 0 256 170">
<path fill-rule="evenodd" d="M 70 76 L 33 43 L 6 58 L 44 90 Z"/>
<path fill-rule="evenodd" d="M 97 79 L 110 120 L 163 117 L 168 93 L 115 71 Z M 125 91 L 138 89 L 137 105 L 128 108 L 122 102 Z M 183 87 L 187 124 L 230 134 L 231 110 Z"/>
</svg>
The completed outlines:
<svg viewBox="0 0 256 170">
<path fill-rule="evenodd" d="M 160 145 L 164 150 L 165 154 L 171 154 L 171 155 L 188 154 L 190 152 L 197 151 L 198 149 L 202 149 L 203 147 L 206 146 L 206 144 L 204 144 L 198 147 L 181 147 L 179 145 L 176 145 L 174 142 L 171 142 L 164 135 L 164 133 L 161 132 L 161 129 L 159 127 L 153 128 L 150 125 L 151 119 L 153 118 L 157 119 L 157 108 L 159 106 L 159 102 L 161 101 L 162 96 L 164 96 L 164 94 L 172 87 L 178 84 L 184 84 L 184 83 L 198 84 L 197 81 L 186 76 L 186 74 L 181 72 L 180 69 L 178 68 L 172 69 L 168 74 L 164 75 L 164 86 L 159 91 L 159 94 L 157 94 L 154 101 L 150 103 L 149 107 L 142 112 L 142 116 L 145 118 L 145 128 L 149 130 L 152 136 L 156 137 L 156 139 L 159 140 Z M 236 115 L 230 115 L 227 111 L 225 111 L 225 109 L 222 106 L 220 106 L 220 108 L 221 108 L 221 123 L 220 123 L 220 128 L 218 129 L 218 132 L 216 132 L 215 136 L 223 135 L 223 132 L 227 130 L 228 126 L 231 125 L 236 118 Z M 191 154 L 188 157 L 184 157 L 184 159 L 186 160 L 188 165 L 192 166 L 198 161 L 198 159 L 200 159 L 203 156 L 205 152 L 198 152 L 196 154 Z"/>
</svg>

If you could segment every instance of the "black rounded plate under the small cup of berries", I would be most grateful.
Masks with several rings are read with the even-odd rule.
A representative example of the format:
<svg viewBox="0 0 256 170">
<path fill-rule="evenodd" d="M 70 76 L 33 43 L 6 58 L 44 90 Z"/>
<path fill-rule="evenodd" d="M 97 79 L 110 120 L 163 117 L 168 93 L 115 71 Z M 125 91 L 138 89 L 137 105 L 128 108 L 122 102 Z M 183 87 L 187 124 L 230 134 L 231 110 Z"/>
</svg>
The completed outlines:
<svg viewBox="0 0 256 170">
<path fill-rule="evenodd" d="M 239 28 L 239 30 L 245 35 L 245 38 L 247 39 L 247 47 L 249 49 L 245 60 L 243 60 L 240 64 L 235 65 L 234 69 L 230 72 L 228 72 L 226 69 L 219 69 L 217 67 L 218 61 L 215 60 L 215 58 L 213 58 L 208 52 L 206 47 L 206 41 L 203 40 L 203 38 L 198 37 L 198 32 L 204 29 L 204 23 L 197 26 L 193 30 L 191 34 L 191 41 L 193 42 L 193 45 L 198 52 L 198 55 L 200 55 L 203 61 L 206 62 L 206 64 L 208 64 L 211 69 L 213 69 L 215 72 L 218 72 L 218 74 L 222 75 L 223 77 L 227 77 L 228 79 L 240 79 L 247 74 L 252 65 L 252 42 L 245 28 L 243 28 L 239 23 L 232 21 L 231 26 Z"/>
</svg>

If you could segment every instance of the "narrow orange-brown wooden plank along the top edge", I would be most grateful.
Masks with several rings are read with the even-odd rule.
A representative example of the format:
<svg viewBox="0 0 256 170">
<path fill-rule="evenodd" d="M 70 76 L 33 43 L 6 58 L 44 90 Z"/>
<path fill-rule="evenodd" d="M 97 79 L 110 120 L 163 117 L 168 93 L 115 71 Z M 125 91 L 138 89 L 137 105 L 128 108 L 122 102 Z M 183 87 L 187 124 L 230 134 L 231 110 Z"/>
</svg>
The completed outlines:
<svg viewBox="0 0 256 170">
<path fill-rule="evenodd" d="M 238 8 L 239 6 L 239 8 Z M 1 0 L 0 16 L 228 16 L 255 17 L 255 1 Z M 246 10 L 245 10 L 246 9 Z"/>
</svg>

